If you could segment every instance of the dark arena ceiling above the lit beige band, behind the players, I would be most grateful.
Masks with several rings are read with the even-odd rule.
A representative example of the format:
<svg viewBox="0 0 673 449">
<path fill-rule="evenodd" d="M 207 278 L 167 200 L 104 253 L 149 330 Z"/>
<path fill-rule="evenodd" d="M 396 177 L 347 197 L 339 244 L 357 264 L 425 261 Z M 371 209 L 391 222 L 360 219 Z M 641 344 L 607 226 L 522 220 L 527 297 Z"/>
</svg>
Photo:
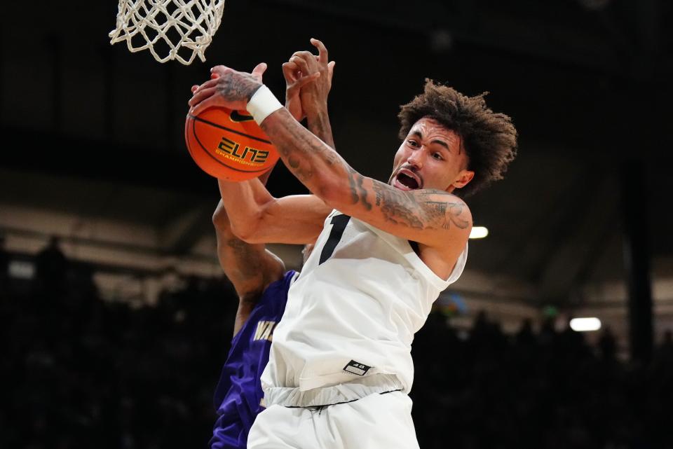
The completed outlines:
<svg viewBox="0 0 673 449">
<path fill-rule="evenodd" d="M 116 2 L 11 2 L 0 46 L 0 203 L 170 226 L 198 216 L 166 251 L 211 233 L 215 181 L 184 148 L 189 87 L 214 64 L 252 69 L 283 93 L 280 64 L 308 39 L 337 61 L 329 99 L 337 149 L 387 179 L 399 104 L 426 77 L 510 114 L 519 157 L 470 200 L 491 235 L 476 270 L 531 282 L 545 298 L 620 279 L 621 217 L 648 221 L 655 260 L 673 256 L 670 2 L 658 0 L 229 0 L 205 63 L 158 64 L 110 46 Z M 646 195 L 620 189 L 643 167 Z M 302 191 L 279 167 L 270 189 Z M 655 270 L 660 265 L 655 264 Z M 663 266 L 663 265 L 662 265 Z"/>
</svg>

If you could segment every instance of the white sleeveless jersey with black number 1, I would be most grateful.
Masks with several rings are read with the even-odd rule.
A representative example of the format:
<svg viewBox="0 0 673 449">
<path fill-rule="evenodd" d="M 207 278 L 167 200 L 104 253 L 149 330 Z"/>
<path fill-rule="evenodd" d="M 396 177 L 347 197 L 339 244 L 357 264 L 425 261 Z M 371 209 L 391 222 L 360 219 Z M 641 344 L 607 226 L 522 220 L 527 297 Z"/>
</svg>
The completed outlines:
<svg viewBox="0 0 673 449">
<path fill-rule="evenodd" d="M 409 392 L 414 333 L 440 292 L 460 277 L 435 275 L 408 240 L 333 211 L 290 287 L 261 376 L 267 405 L 319 406 Z"/>
</svg>

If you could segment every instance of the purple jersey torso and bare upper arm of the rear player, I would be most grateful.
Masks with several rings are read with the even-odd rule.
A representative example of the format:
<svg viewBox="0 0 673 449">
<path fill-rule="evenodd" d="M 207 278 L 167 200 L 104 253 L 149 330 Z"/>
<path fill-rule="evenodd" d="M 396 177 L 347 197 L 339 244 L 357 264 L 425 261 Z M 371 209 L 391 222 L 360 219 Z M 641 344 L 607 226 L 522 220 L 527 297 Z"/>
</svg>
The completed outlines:
<svg viewBox="0 0 673 449">
<path fill-rule="evenodd" d="M 287 290 L 297 272 L 283 274 L 283 261 L 264 244 L 247 244 L 234 236 L 222 202 L 217 205 L 213 224 L 219 263 L 239 299 L 231 350 L 215 389 L 217 421 L 210 448 L 243 449 L 254 418 L 264 410 L 259 377 L 268 362 L 273 328 L 283 316 Z"/>
</svg>

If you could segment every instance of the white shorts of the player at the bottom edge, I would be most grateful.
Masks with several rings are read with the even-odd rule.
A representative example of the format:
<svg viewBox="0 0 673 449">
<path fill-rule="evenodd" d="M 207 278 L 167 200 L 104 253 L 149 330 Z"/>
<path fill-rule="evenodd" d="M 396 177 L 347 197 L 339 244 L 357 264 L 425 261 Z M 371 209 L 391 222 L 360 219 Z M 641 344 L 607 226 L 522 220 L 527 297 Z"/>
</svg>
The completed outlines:
<svg viewBox="0 0 673 449">
<path fill-rule="evenodd" d="M 270 406 L 254 420 L 247 448 L 418 449 L 419 443 L 412 400 L 390 392 L 334 406 Z"/>
</svg>

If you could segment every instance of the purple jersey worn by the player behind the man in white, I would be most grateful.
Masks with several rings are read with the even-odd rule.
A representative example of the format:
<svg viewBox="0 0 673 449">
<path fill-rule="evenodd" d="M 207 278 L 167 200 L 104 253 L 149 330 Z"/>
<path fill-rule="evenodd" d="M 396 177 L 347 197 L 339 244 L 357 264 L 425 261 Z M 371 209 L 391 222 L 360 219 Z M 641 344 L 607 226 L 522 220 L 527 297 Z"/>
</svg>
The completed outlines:
<svg viewBox="0 0 673 449">
<path fill-rule="evenodd" d="M 222 374 L 215 389 L 217 421 L 210 439 L 211 449 L 245 449 L 254 418 L 264 410 L 259 378 L 268 363 L 271 335 L 285 311 L 287 290 L 296 271 L 269 284 L 250 317 L 231 340 Z"/>
</svg>

